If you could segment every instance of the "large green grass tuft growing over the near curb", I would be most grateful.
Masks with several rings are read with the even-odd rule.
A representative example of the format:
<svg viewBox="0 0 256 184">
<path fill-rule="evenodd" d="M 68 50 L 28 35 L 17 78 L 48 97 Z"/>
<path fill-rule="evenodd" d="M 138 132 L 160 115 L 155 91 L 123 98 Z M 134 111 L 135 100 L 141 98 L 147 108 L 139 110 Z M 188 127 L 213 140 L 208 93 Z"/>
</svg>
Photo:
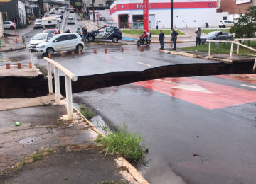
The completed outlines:
<svg viewBox="0 0 256 184">
<path fill-rule="evenodd" d="M 102 146 L 102 153 L 111 154 L 116 152 L 127 160 L 139 160 L 146 155 L 146 145 L 142 142 L 141 134 L 128 131 L 128 126 L 123 124 L 117 127 L 117 132 L 105 130 L 105 136 L 95 138 L 95 144 Z"/>
</svg>

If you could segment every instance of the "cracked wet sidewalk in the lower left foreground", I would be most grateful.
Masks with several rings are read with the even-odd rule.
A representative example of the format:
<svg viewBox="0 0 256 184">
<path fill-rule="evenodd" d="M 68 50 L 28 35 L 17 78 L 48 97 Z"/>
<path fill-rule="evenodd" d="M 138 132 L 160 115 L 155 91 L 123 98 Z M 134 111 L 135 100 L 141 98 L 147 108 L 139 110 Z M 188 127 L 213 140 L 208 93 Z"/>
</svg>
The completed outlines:
<svg viewBox="0 0 256 184">
<path fill-rule="evenodd" d="M 0 183 L 147 183 L 122 157 L 100 154 L 99 131 L 75 108 L 65 118 L 54 98 L 0 99 Z"/>
</svg>

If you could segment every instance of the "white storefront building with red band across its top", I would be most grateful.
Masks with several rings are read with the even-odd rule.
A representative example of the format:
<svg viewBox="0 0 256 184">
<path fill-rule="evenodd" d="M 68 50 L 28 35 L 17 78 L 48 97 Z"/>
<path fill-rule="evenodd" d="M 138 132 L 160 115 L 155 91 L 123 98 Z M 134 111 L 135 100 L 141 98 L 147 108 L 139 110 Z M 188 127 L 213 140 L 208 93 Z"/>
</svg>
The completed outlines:
<svg viewBox="0 0 256 184">
<path fill-rule="evenodd" d="M 218 26 L 228 12 L 216 13 L 216 0 L 175 0 L 174 26 L 177 28 Z M 143 0 L 117 0 L 110 6 L 110 16 L 117 20 L 119 28 L 143 28 Z M 159 28 L 171 27 L 171 1 L 149 0 L 149 25 Z"/>
</svg>

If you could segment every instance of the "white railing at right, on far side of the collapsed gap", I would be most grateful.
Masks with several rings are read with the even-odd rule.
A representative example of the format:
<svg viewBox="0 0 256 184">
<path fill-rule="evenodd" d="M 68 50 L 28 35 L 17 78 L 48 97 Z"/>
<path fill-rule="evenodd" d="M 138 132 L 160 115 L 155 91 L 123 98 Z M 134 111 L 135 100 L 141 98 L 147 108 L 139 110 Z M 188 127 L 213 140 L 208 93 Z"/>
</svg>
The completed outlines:
<svg viewBox="0 0 256 184">
<path fill-rule="evenodd" d="M 239 42 L 239 40 L 256 40 L 256 39 L 255 38 L 238 38 L 238 39 L 235 39 L 234 41 L 228 41 L 228 40 L 223 40 L 223 41 L 220 41 L 220 40 L 207 40 L 207 42 L 209 42 L 208 57 L 210 58 L 210 43 L 211 42 L 223 42 L 223 43 L 230 42 L 231 43 L 229 62 L 232 62 L 233 45 L 234 44 L 238 45 L 238 47 L 237 47 L 237 54 L 239 54 L 239 45 L 242 46 L 242 47 L 245 47 L 245 48 L 247 48 L 249 50 L 253 50 L 253 51 L 256 52 L 256 50 L 254 48 L 248 47 L 247 45 L 243 45 L 242 43 Z M 252 68 L 252 72 L 255 72 L 255 68 L 256 68 L 256 58 L 255 58 L 255 63 L 254 63 L 253 68 Z"/>
</svg>

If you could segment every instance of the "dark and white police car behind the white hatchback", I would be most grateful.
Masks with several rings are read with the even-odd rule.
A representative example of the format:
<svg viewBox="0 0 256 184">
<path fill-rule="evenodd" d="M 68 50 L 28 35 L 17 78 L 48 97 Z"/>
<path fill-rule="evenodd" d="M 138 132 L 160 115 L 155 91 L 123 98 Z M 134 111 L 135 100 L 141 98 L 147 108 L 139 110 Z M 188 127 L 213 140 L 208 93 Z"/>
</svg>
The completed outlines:
<svg viewBox="0 0 256 184">
<path fill-rule="evenodd" d="M 92 42 L 95 39 L 112 40 L 112 42 L 118 42 L 122 40 L 122 31 L 117 27 L 103 27 L 97 30 L 92 30 L 88 33 L 87 39 Z"/>
</svg>

